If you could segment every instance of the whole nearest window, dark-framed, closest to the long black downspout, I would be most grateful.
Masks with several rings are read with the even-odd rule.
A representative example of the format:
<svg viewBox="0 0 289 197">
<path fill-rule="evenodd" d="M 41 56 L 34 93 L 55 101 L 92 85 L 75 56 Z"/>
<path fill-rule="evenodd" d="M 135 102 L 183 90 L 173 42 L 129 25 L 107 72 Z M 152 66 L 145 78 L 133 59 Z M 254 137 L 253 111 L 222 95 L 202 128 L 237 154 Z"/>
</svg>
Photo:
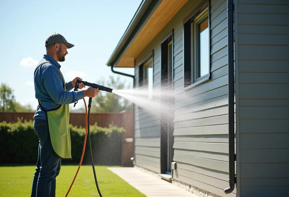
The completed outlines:
<svg viewBox="0 0 289 197">
<path fill-rule="evenodd" d="M 210 79 L 210 31 L 208 2 L 184 22 L 184 85 Z"/>
</svg>

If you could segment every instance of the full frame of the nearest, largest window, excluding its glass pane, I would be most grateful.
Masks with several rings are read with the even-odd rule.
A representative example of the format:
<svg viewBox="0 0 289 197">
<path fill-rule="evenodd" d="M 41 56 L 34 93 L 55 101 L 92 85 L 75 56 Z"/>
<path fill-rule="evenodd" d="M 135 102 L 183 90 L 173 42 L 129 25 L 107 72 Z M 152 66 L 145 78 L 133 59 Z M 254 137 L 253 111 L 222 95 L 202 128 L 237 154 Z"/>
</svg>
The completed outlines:
<svg viewBox="0 0 289 197">
<path fill-rule="evenodd" d="M 208 19 L 208 74 L 196 77 L 199 64 L 199 33 L 197 31 L 197 24 L 200 24 Z M 211 79 L 211 31 L 210 31 L 210 1 L 203 0 L 184 20 L 183 20 L 183 84 L 184 88 L 189 89 L 201 83 L 207 82 Z M 198 40 L 198 41 L 197 41 Z"/>
</svg>

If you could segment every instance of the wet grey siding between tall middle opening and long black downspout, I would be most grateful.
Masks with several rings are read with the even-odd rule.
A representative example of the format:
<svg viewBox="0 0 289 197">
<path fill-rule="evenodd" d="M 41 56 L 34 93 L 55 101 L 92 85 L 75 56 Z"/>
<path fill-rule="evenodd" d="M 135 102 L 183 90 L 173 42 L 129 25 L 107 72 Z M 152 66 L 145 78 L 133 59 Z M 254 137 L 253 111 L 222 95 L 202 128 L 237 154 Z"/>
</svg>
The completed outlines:
<svg viewBox="0 0 289 197">
<path fill-rule="evenodd" d="M 229 180 L 227 3 L 211 3 L 211 80 L 175 96 L 173 178 L 219 196 L 236 196 L 236 188 L 231 194 L 223 192 Z M 192 10 L 196 5 L 188 6 Z M 174 85 L 182 88 L 181 44 L 175 45 Z"/>
</svg>

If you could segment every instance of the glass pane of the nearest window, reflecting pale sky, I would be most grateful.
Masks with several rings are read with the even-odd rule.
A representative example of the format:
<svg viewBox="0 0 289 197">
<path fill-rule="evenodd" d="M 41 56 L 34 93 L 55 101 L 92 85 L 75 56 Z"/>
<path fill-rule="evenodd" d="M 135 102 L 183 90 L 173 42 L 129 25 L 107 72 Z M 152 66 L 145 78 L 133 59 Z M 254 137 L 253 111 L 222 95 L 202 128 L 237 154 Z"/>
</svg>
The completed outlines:
<svg viewBox="0 0 289 197">
<path fill-rule="evenodd" d="M 202 77 L 209 73 L 209 28 L 208 19 L 200 24 L 200 67 L 199 74 Z"/>
</svg>

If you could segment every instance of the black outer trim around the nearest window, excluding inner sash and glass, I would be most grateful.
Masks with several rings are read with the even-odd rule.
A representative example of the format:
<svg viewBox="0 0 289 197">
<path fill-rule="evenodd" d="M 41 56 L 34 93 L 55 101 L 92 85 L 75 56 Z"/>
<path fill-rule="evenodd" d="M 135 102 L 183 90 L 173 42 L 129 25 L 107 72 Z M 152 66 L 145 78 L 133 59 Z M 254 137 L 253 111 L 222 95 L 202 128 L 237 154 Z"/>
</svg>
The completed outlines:
<svg viewBox="0 0 289 197">
<path fill-rule="evenodd" d="M 192 84 L 192 61 L 191 61 L 191 22 L 192 17 L 197 14 L 205 5 L 208 5 L 208 29 L 209 29 L 209 73 L 203 78 Z M 184 88 L 194 87 L 200 83 L 206 82 L 211 79 L 211 30 L 210 30 L 210 0 L 203 0 L 186 18 L 183 20 L 183 84 Z"/>
</svg>

